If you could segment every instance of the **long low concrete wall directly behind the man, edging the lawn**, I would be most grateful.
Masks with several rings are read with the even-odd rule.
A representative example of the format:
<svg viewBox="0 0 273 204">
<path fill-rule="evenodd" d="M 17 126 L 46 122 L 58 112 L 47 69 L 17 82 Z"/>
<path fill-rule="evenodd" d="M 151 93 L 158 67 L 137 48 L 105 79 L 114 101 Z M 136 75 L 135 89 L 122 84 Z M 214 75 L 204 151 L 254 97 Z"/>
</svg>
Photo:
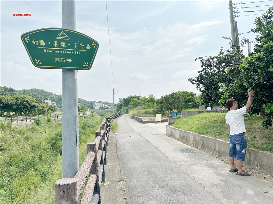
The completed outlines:
<svg viewBox="0 0 273 204">
<path fill-rule="evenodd" d="M 230 144 L 228 141 L 197 133 L 181 130 L 167 125 L 167 134 L 179 138 L 189 144 L 196 145 L 222 157 L 228 157 Z M 243 165 L 273 176 L 273 154 L 269 152 L 247 149 Z"/>
</svg>

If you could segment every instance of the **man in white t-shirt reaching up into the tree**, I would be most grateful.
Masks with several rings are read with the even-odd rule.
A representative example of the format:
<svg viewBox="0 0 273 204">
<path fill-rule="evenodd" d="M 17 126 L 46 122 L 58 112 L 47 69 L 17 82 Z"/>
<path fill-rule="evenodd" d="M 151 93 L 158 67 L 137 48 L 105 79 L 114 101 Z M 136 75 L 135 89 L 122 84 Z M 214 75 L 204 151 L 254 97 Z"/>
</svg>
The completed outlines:
<svg viewBox="0 0 273 204">
<path fill-rule="evenodd" d="M 243 171 L 242 164 L 245 161 L 245 151 L 247 148 L 245 139 L 245 120 L 244 114 L 252 104 L 252 95 L 254 91 L 248 91 L 248 102 L 240 109 L 235 99 L 228 99 L 226 105 L 230 108 L 226 115 L 227 129 L 229 132 L 230 150 L 228 159 L 230 161 L 230 172 L 237 172 L 239 176 L 250 176 L 250 173 Z M 236 157 L 238 168 L 234 166 L 234 157 Z"/>
</svg>

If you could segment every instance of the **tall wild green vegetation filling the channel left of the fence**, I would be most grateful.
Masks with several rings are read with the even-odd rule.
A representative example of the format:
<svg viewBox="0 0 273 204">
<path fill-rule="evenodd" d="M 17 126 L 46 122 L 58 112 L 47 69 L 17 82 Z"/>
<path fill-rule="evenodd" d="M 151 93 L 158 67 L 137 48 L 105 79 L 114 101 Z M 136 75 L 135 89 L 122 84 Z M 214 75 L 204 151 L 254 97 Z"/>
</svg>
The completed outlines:
<svg viewBox="0 0 273 204">
<path fill-rule="evenodd" d="M 79 165 L 104 116 L 79 117 Z M 0 203 L 55 203 L 55 182 L 62 177 L 61 125 L 47 118 L 25 126 L 0 124 Z"/>
</svg>

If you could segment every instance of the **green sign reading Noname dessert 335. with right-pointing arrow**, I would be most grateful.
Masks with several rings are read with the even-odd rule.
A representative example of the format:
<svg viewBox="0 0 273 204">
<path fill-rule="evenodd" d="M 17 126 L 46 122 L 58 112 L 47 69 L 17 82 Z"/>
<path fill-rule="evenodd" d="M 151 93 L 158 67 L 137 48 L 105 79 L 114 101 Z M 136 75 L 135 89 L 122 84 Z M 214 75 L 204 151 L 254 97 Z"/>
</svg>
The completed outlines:
<svg viewBox="0 0 273 204">
<path fill-rule="evenodd" d="M 32 64 L 46 69 L 91 69 L 99 48 L 94 39 L 63 28 L 33 30 L 21 40 Z"/>
</svg>

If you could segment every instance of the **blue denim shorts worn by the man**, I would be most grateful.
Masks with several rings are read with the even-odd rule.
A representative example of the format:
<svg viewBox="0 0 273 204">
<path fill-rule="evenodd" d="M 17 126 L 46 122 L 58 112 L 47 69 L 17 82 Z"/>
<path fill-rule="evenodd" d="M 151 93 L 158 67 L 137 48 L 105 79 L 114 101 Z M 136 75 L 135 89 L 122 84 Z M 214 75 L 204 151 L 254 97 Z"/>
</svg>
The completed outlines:
<svg viewBox="0 0 273 204">
<path fill-rule="evenodd" d="M 230 150 L 229 157 L 236 157 L 237 160 L 245 161 L 245 151 L 247 148 L 245 133 L 229 136 Z"/>
</svg>

